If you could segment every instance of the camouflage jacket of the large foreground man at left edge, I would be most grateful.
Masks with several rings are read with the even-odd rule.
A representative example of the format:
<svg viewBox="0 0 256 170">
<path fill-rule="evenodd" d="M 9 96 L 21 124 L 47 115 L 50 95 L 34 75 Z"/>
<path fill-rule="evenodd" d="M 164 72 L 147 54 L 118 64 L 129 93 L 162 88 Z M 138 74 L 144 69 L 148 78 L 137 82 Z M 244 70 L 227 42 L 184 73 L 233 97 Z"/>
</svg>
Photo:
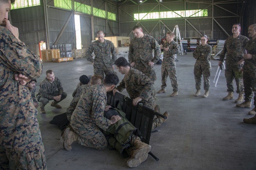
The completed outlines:
<svg viewBox="0 0 256 170">
<path fill-rule="evenodd" d="M 42 73 L 40 58 L 0 26 L 0 147 L 22 152 L 41 138 L 37 109 L 26 86 L 14 74 L 37 79 Z"/>
</svg>

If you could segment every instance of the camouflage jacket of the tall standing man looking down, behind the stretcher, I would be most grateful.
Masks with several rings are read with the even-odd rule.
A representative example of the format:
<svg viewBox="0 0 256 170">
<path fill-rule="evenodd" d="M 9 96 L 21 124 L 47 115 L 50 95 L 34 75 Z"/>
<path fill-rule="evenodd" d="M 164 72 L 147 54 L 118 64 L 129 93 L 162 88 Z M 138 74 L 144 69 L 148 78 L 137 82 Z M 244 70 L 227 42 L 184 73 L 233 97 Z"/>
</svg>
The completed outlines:
<svg viewBox="0 0 256 170">
<path fill-rule="evenodd" d="M 154 58 L 153 58 L 154 49 Z M 130 63 L 142 62 L 148 67 L 148 62 L 152 61 L 156 63 L 160 58 L 161 50 L 156 39 L 150 35 L 144 34 L 144 37 L 139 41 L 137 37 L 134 37 L 130 42 L 128 60 Z"/>
</svg>

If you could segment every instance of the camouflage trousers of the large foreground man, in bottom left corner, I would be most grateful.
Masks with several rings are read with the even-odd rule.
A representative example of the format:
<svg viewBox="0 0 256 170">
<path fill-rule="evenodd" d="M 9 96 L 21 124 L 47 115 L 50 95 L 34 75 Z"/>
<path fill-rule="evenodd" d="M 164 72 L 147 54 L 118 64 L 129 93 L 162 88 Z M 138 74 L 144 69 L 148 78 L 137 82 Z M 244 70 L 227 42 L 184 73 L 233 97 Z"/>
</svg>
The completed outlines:
<svg viewBox="0 0 256 170">
<path fill-rule="evenodd" d="M 47 169 L 41 136 L 26 142 L 22 147 L 0 147 L 0 169 Z"/>
</svg>

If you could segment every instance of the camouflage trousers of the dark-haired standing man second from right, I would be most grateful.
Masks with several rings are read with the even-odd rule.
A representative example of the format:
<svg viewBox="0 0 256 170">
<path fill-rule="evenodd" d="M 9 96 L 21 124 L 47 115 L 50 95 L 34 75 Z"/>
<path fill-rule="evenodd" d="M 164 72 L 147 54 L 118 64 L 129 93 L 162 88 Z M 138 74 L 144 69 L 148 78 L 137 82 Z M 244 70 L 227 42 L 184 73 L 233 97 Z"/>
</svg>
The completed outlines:
<svg viewBox="0 0 256 170">
<path fill-rule="evenodd" d="M 234 91 L 234 79 L 237 84 L 237 93 L 243 93 L 244 87 L 243 87 L 243 78 L 235 78 L 235 72 L 238 72 L 242 69 L 243 65 L 237 65 L 237 66 L 230 66 L 226 65 L 225 69 L 225 77 L 227 81 L 227 87 L 228 92 Z"/>
</svg>

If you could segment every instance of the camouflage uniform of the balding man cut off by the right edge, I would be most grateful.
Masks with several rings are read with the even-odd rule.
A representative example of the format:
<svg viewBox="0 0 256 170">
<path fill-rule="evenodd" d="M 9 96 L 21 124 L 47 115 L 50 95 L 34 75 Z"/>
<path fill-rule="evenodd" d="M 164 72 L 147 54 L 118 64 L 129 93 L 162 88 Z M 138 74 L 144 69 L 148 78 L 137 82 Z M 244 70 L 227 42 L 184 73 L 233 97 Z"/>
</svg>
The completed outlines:
<svg viewBox="0 0 256 170">
<path fill-rule="evenodd" d="M 244 100 L 251 102 L 254 92 L 254 106 L 256 106 L 256 39 L 249 40 L 245 49 L 247 54 L 252 54 L 252 59 L 244 60 L 243 65 Z"/>
</svg>

